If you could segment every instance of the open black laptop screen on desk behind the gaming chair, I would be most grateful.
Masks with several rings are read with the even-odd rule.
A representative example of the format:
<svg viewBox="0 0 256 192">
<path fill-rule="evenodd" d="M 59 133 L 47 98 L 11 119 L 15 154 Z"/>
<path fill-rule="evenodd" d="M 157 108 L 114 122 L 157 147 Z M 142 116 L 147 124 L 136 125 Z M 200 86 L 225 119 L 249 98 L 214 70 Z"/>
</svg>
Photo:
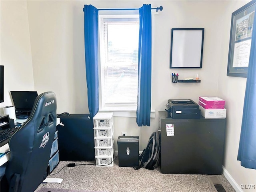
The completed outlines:
<svg viewBox="0 0 256 192">
<path fill-rule="evenodd" d="M 15 109 L 19 114 L 30 115 L 34 101 L 38 96 L 36 91 L 11 91 Z"/>
</svg>

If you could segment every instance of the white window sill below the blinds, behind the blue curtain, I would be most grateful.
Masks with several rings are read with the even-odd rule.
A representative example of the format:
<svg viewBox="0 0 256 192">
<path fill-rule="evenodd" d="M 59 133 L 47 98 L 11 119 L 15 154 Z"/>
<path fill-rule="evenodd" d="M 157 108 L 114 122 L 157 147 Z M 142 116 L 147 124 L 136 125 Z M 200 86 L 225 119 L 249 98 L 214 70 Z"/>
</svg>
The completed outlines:
<svg viewBox="0 0 256 192">
<path fill-rule="evenodd" d="M 99 109 L 99 112 L 113 112 L 114 117 L 136 117 L 136 109 Z M 156 117 L 156 110 L 151 110 L 150 118 Z"/>
</svg>

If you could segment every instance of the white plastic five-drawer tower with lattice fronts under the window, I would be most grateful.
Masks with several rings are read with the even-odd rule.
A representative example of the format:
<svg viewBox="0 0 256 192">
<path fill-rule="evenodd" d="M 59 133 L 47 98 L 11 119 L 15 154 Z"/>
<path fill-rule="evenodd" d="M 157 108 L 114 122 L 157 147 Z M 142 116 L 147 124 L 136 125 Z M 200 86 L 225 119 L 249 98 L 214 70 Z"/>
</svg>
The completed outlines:
<svg viewBox="0 0 256 192">
<path fill-rule="evenodd" d="M 96 166 L 113 166 L 113 113 L 98 112 L 93 118 Z"/>
</svg>

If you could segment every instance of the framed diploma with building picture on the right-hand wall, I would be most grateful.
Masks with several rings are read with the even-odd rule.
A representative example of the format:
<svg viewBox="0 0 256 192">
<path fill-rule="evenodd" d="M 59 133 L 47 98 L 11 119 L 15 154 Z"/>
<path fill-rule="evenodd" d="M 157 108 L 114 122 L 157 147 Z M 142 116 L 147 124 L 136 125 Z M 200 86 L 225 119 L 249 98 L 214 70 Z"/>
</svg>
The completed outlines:
<svg viewBox="0 0 256 192">
<path fill-rule="evenodd" d="M 255 6 L 253 0 L 232 13 L 227 76 L 247 77 Z"/>
</svg>

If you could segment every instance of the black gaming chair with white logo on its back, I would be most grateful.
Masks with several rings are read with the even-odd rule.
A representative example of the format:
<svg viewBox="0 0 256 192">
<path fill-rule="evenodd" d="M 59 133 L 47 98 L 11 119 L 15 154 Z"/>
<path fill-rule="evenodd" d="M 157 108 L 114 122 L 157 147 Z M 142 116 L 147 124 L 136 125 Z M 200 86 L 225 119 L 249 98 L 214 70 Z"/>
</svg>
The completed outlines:
<svg viewBox="0 0 256 192">
<path fill-rule="evenodd" d="M 56 132 L 56 106 L 53 92 L 40 94 L 28 120 L 11 136 L 10 160 L 2 179 L 6 180 L 7 191 L 34 192 L 46 178 Z"/>
</svg>

